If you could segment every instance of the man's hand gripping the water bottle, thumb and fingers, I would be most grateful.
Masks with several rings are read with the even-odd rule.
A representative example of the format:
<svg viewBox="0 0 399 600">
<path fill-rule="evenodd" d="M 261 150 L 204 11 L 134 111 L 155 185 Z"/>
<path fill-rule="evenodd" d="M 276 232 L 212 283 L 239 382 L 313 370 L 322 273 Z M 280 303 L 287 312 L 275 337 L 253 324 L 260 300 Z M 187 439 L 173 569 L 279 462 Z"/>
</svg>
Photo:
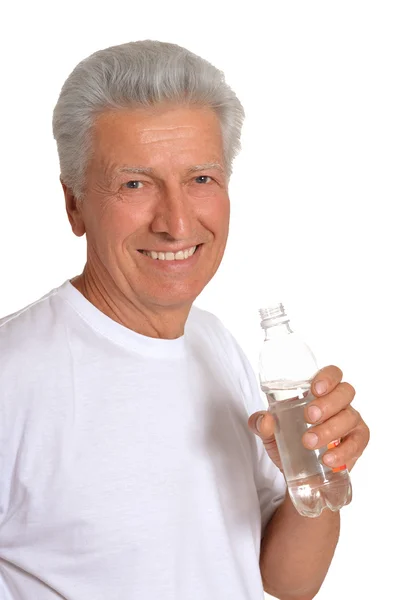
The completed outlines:
<svg viewBox="0 0 399 600">
<path fill-rule="evenodd" d="M 305 407 L 304 416 L 312 427 L 303 435 L 303 445 L 317 450 L 341 439 L 338 446 L 324 454 L 323 462 L 331 468 L 346 465 L 350 471 L 370 439 L 369 428 L 351 406 L 356 392 L 349 383 L 342 382 L 342 371 L 335 366 L 324 367 L 317 373 L 311 392 L 314 399 Z M 270 458 L 281 470 L 273 416 L 268 411 L 256 412 L 250 416 L 248 425 L 262 439 Z"/>
</svg>

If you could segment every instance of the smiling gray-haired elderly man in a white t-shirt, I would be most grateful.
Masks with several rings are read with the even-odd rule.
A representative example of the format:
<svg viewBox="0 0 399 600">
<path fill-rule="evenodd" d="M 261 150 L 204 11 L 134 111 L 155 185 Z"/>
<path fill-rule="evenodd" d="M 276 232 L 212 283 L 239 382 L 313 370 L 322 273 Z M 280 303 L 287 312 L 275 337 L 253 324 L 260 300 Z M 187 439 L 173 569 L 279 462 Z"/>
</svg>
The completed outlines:
<svg viewBox="0 0 399 600">
<path fill-rule="evenodd" d="M 4 600 L 308 600 L 323 582 L 339 514 L 295 511 L 248 361 L 193 306 L 225 249 L 242 121 L 222 73 L 173 44 L 96 52 L 63 86 L 87 262 L 0 322 Z M 315 377 L 313 431 L 351 468 L 369 433 L 341 378 Z"/>
</svg>

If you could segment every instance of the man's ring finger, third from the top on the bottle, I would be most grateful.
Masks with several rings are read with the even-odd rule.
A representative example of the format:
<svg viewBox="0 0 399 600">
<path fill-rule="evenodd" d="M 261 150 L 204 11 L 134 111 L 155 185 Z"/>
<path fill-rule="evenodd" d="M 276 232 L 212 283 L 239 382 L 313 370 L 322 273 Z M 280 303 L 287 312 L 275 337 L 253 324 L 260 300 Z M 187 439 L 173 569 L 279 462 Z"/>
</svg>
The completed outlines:
<svg viewBox="0 0 399 600">
<path fill-rule="evenodd" d="M 327 446 L 330 442 L 348 435 L 360 422 L 361 417 L 357 410 L 348 406 L 321 425 L 308 429 L 302 437 L 303 443 L 306 448 L 312 450 Z"/>
</svg>

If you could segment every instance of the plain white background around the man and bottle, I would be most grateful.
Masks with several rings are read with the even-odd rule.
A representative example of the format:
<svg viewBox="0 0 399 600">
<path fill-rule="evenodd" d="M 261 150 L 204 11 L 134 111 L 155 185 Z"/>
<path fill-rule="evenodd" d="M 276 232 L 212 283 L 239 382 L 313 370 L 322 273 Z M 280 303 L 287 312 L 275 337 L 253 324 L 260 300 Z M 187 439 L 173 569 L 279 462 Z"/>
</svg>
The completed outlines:
<svg viewBox="0 0 399 600">
<path fill-rule="evenodd" d="M 51 134 L 74 66 L 150 38 L 224 70 L 247 118 L 225 260 L 198 304 L 256 369 L 257 309 L 280 299 L 319 365 L 339 365 L 355 386 L 371 441 L 317 597 L 398 598 L 398 3 L 25 1 L 2 21 L 0 315 L 84 264 Z"/>
</svg>

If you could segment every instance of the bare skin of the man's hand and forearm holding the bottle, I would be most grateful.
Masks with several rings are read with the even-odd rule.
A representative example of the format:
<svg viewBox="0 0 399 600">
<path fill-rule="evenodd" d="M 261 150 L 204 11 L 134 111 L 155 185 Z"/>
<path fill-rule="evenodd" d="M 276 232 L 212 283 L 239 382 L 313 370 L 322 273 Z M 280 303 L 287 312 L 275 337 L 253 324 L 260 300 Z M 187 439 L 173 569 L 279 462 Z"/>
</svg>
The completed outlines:
<svg viewBox="0 0 399 600">
<path fill-rule="evenodd" d="M 341 438 L 339 446 L 324 454 L 323 461 L 332 467 L 346 464 L 350 471 L 366 448 L 370 431 L 351 405 L 355 389 L 342 382 L 342 376 L 341 369 L 332 365 L 324 367 L 314 377 L 311 391 L 315 399 L 305 408 L 305 419 L 312 427 L 304 434 L 303 444 L 315 449 Z M 318 384 L 324 384 L 325 390 L 318 390 Z M 313 408 L 319 409 L 320 413 L 314 414 Z M 281 469 L 272 415 L 267 411 L 254 413 L 248 424 Z M 315 445 L 309 444 L 311 433 L 317 435 Z M 312 600 L 327 574 L 339 529 L 339 512 L 324 510 L 315 519 L 302 517 L 287 494 L 262 539 L 260 569 L 265 591 L 280 600 Z"/>
</svg>

